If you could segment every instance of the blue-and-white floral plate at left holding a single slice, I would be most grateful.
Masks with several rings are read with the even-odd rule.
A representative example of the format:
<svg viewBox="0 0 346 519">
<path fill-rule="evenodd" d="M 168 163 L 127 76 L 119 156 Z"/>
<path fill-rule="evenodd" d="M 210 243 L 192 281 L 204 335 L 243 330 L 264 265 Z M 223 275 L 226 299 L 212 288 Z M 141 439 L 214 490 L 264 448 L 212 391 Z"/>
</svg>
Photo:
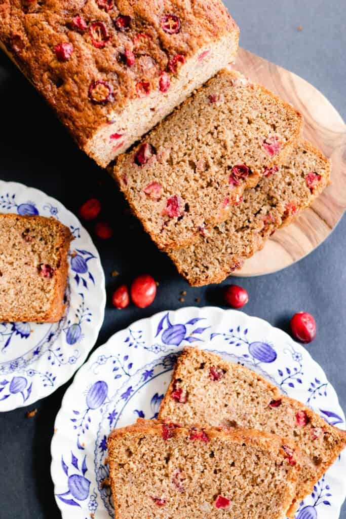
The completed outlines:
<svg viewBox="0 0 346 519">
<path fill-rule="evenodd" d="M 0 181 L 0 212 L 54 216 L 74 236 L 61 321 L 0 323 L 0 411 L 10 411 L 47 397 L 85 361 L 102 326 L 106 294 L 98 251 L 60 202 L 38 189 Z"/>
</svg>

